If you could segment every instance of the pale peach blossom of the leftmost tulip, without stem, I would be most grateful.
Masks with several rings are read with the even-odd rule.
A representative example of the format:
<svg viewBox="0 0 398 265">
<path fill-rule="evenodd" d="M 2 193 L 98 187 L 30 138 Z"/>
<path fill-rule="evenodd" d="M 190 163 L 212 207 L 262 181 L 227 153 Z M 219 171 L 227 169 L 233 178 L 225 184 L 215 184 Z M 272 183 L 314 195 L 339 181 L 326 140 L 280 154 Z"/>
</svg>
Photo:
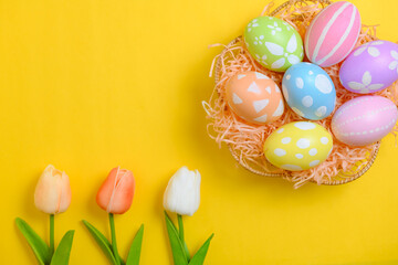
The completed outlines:
<svg viewBox="0 0 398 265">
<path fill-rule="evenodd" d="M 62 213 L 71 204 L 71 197 L 67 174 L 49 165 L 35 187 L 35 206 L 49 214 Z"/>
</svg>

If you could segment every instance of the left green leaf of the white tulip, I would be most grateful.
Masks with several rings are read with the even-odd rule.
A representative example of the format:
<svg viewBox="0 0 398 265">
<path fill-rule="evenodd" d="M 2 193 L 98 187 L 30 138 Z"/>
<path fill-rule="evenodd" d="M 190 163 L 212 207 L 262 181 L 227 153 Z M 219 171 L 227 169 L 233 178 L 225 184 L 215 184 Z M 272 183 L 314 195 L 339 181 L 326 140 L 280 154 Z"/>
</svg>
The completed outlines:
<svg viewBox="0 0 398 265">
<path fill-rule="evenodd" d="M 182 242 L 179 239 L 179 234 L 177 232 L 176 226 L 171 222 L 170 218 L 167 215 L 166 211 L 165 211 L 165 218 L 166 218 L 167 233 L 169 235 L 169 241 L 171 245 L 174 263 L 175 265 L 188 265 Z"/>
</svg>

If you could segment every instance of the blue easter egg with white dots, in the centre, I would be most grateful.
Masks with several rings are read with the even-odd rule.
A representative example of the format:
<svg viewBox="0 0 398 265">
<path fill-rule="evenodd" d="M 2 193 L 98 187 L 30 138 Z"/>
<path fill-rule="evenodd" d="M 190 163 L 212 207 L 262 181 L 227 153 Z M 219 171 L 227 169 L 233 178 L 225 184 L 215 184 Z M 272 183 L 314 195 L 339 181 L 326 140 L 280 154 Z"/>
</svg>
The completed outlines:
<svg viewBox="0 0 398 265">
<path fill-rule="evenodd" d="M 312 63 L 291 66 L 283 76 L 282 92 L 293 112 L 306 119 L 324 119 L 336 105 L 336 89 L 331 76 Z"/>
</svg>

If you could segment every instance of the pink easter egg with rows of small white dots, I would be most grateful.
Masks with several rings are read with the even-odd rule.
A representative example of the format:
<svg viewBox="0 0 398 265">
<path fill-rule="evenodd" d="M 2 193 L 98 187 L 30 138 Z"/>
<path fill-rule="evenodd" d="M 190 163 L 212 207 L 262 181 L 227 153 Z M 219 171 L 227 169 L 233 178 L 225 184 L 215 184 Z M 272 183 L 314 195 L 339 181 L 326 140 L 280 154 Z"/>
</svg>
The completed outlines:
<svg viewBox="0 0 398 265">
<path fill-rule="evenodd" d="M 349 146 L 374 144 L 391 131 L 397 123 L 397 106 L 381 96 L 360 96 L 343 104 L 334 114 L 332 130 Z"/>
</svg>

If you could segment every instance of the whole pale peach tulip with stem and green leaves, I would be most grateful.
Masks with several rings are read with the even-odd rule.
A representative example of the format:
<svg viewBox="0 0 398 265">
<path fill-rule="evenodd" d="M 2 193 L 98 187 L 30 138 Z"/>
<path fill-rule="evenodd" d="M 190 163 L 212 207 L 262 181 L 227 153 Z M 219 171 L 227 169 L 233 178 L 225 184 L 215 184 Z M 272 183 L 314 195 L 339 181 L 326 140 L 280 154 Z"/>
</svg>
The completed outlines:
<svg viewBox="0 0 398 265">
<path fill-rule="evenodd" d="M 35 187 L 34 204 L 42 212 L 50 214 L 50 245 L 46 245 L 33 229 L 19 218 L 15 220 L 18 229 L 27 239 L 40 264 L 67 264 L 74 231 L 67 231 L 56 250 L 54 247 L 54 215 L 65 212 L 71 204 L 67 174 L 49 165 Z"/>
</svg>

